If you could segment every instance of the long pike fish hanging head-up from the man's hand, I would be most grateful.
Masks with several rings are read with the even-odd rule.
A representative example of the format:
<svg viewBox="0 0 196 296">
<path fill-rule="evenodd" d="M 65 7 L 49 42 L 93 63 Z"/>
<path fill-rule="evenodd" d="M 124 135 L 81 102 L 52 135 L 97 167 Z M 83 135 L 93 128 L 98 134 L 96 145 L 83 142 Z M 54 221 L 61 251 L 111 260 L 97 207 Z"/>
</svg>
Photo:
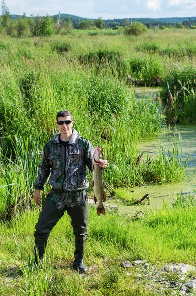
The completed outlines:
<svg viewBox="0 0 196 296">
<path fill-rule="evenodd" d="M 103 147 L 96 146 L 93 156 L 93 190 L 94 201 L 97 202 L 97 215 L 106 215 L 106 211 L 103 206 L 103 201 L 106 201 L 106 193 L 103 186 L 103 169 L 99 166 L 99 163 L 103 163 Z"/>
</svg>

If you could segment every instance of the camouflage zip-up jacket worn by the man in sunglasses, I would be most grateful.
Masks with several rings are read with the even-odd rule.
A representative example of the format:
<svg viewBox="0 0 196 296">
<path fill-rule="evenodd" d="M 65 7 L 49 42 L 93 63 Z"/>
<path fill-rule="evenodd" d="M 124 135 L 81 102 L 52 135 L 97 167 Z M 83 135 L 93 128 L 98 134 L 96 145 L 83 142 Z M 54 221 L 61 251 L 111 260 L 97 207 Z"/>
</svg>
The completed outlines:
<svg viewBox="0 0 196 296">
<path fill-rule="evenodd" d="M 59 144 L 59 134 L 43 148 L 43 158 L 34 184 L 35 189 L 43 190 L 47 181 L 55 191 L 72 192 L 89 186 L 86 165 L 92 171 L 94 148 L 73 129 L 67 146 Z"/>
</svg>

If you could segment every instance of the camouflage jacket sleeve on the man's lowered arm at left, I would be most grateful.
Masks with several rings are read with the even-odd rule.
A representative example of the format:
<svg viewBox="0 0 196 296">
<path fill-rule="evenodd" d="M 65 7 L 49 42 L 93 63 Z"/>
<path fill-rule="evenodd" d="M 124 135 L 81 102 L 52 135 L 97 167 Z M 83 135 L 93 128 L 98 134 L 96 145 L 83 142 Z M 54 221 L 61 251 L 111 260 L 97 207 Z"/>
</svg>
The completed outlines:
<svg viewBox="0 0 196 296">
<path fill-rule="evenodd" d="M 47 159 L 46 146 L 43 148 L 43 158 L 39 163 L 39 171 L 34 183 L 34 188 L 44 190 L 44 184 L 50 175 L 52 162 Z"/>
</svg>

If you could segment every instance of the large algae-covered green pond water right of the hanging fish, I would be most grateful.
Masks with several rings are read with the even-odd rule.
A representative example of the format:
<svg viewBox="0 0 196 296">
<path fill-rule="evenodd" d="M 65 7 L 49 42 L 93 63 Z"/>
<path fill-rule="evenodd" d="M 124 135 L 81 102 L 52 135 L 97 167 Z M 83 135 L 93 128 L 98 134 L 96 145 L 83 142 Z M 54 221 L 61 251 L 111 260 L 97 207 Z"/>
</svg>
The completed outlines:
<svg viewBox="0 0 196 296">
<path fill-rule="evenodd" d="M 140 211 L 146 212 L 149 209 L 158 209 L 165 204 L 171 206 L 176 195 L 181 194 L 181 192 L 186 195 L 196 190 L 196 126 L 176 125 L 169 130 L 165 129 L 157 139 L 139 142 L 137 145 L 138 154 L 142 152 L 147 153 L 148 156 L 156 156 L 160 145 L 163 145 L 166 151 L 171 151 L 175 138 L 178 139 L 178 147 L 182 151 L 182 161 L 185 161 L 189 156 L 185 180 L 176 184 L 145 185 L 118 190 L 119 199 L 111 199 L 109 203 L 118 204 L 120 213 L 134 214 Z M 147 205 L 147 202 L 145 205 L 132 205 L 133 199 L 141 199 L 147 193 L 149 194 L 150 205 Z"/>
</svg>

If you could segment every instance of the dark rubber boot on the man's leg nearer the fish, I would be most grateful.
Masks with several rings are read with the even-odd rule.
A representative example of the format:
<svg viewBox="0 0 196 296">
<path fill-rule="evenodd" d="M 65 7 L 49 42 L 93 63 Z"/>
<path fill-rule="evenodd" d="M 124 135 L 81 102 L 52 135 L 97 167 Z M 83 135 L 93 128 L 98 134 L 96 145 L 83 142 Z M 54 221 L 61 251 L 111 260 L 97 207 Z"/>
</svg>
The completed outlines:
<svg viewBox="0 0 196 296">
<path fill-rule="evenodd" d="M 84 245 L 86 241 L 86 236 L 77 237 L 75 236 L 75 251 L 74 251 L 74 263 L 73 268 L 79 272 L 86 272 L 87 268 L 83 264 L 84 259 Z"/>
</svg>

